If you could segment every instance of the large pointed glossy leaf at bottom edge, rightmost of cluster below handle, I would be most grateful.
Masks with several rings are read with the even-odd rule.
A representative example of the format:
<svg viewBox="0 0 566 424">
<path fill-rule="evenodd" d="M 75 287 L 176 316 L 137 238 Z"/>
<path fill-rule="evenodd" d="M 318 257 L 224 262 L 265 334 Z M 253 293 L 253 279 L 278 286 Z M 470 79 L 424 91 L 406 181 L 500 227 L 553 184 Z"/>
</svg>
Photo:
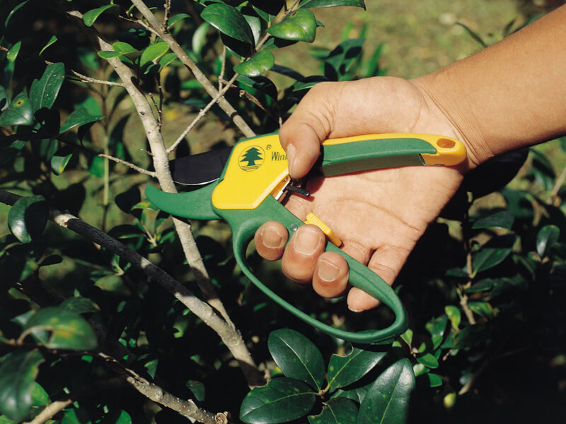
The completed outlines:
<svg viewBox="0 0 566 424">
<path fill-rule="evenodd" d="M 359 406 L 358 424 L 398 424 L 408 417 L 415 374 L 408 359 L 388 367 L 369 389 Z"/>
</svg>

